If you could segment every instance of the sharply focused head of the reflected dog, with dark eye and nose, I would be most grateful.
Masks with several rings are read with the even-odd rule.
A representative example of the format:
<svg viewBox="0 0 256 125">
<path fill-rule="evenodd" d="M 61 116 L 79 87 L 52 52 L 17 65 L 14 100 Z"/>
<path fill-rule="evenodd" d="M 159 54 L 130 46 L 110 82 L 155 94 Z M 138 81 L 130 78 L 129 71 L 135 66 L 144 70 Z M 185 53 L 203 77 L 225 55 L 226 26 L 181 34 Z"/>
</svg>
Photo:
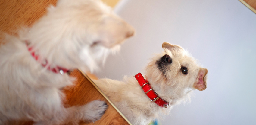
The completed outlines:
<svg viewBox="0 0 256 125">
<path fill-rule="evenodd" d="M 164 42 L 164 51 L 152 58 L 146 67 L 146 76 L 152 88 L 164 100 L 177 103 L 193 89 L 207 87 L 207 69 L 178 45 Z"/>
</svg>

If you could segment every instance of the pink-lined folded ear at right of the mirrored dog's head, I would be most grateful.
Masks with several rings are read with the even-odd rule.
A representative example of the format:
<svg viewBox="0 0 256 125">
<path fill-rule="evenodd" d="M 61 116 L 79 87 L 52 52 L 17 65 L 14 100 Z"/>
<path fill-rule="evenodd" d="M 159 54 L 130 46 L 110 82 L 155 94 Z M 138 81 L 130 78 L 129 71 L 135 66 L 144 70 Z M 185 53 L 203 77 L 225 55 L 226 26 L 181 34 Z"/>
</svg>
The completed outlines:
<svg viewBox="0 0 256 125">
<path fill-rule="evenodd" d="M 206 68 L 200 68 L 198 75 L 197 75 L 197 80 L 194 83 L 194 88 L 198 89 L 200 91 L 203 91 L 207 87 L 207 73 L 208 70 Z"/>
</svg>

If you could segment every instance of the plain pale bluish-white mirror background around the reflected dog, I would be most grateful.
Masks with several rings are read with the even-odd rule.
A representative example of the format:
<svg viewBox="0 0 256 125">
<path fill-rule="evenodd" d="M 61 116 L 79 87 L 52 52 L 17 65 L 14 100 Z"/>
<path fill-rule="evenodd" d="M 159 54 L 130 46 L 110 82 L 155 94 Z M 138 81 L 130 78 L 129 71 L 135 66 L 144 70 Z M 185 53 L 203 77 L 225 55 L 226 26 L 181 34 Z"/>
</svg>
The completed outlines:
<svg viewBox="0 0 256 125">
<path fill-rule="evenodd" d="M 208 68 L 208 87 L 175 106 L 162 125 L 256 124 L 256 14 L 238 0 L 125 0 L 117 13 L 137 35 L 98 77 L 143 72 L 162 42 L 181 45 Z"/>
</svg>

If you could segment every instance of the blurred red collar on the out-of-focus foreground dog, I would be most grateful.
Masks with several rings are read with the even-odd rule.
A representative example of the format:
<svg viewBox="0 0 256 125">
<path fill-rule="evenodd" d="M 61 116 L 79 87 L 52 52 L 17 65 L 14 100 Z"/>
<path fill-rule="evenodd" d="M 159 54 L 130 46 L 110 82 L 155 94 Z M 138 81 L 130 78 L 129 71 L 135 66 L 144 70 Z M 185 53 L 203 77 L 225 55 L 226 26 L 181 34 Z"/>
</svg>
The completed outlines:
<svg viewBox="0 0 256 125">
<path fill-rule="evenodd" d="M 28 51 L 30 52 L 30 54 L 32 55 L 32 57 L 33 57 L 36 61 L 39 62 L 39 57 L 40 57 L 39 54 L 36 54 L 35 51 L 33 51 L 33 47 L 29 47 L 29 46 L 28 46 L 28 45 L 29 45 L 28 43 L 26 43 L 26 45 L 27 45 Z M 66 68 L 62 68 L 62 67 L 60 67 L 60 66 L 56 66 L 56 67 L 53 67 L 53 68 L 52 68 L 50 65 L 48 65 L 48 60 L 46 60 L 46 59 L 42 61 L 41 65 L 42 65 L 43 67 L 48 66 L 47 69 L 48 69 L 49 71 L 54 72 L 54 73 L 65 74 L 65 73 L 67 73 L 67 72 L 70 71 L 70 70 L 68 70 L 68 69 L 66 69 Z"/>
</svg>

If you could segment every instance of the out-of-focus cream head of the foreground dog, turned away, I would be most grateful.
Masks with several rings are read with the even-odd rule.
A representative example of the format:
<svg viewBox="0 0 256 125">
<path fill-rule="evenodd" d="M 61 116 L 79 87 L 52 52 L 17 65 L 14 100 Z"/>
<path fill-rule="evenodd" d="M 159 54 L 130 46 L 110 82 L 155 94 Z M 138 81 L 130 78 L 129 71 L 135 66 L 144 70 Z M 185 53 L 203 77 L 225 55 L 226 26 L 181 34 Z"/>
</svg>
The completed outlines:
<svg viewBox="0 0 256 125">
<path fill-rule="evenodd" d="M 74 1 L 49 7 L 24 39 L 49 63 L 93 71 L 135 31 L 100 0 Z"/>
</svg>

